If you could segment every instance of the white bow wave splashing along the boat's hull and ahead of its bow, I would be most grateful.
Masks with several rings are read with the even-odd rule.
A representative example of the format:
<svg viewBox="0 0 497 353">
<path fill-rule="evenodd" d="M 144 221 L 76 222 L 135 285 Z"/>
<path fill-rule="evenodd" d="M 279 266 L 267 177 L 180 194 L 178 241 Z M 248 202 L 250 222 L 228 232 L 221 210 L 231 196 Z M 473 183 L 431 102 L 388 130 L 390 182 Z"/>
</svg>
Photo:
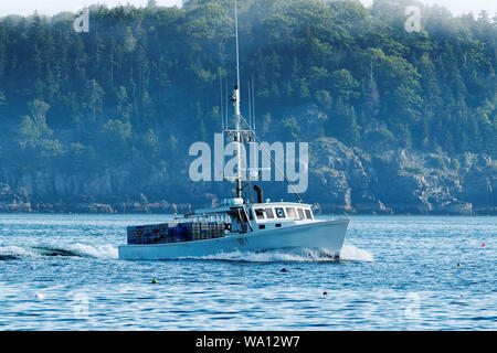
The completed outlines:
<svg viewBox="0 0 497 353">
<path fill-rule="evenodd" d="M 367 250 L 357 248 L 353 245 L 343 245 L 341 256 L 337 260 L 335 254 L 326 249 L 277 249 L 261 253 L 253 252 L 231 252 L 220 253 L 209 256 L 186 257 L 184 259 L 199 260 L 224 260 L 244 263 L 336 263 L 347 261 L 373 261 L 373 256 Z"/>
</svg>

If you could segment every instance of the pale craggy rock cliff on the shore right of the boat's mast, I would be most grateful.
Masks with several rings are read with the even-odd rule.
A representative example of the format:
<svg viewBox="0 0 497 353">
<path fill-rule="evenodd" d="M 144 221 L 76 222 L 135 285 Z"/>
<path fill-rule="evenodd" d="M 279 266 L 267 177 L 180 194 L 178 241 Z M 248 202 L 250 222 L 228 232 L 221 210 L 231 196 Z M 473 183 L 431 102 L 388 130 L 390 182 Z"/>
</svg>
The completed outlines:
<svg viewBox="0 0 497 353">
<path fill-rule="evenodd" d="M 458 168 L 444 154 L 371 157 L 334 139 L 316 141 L 313 152 L 309 193 L 326 200 L 317 201 L 325 212 L 497 214 L 497 168 L 488 156 L 465 153 Z"/>
</svg>

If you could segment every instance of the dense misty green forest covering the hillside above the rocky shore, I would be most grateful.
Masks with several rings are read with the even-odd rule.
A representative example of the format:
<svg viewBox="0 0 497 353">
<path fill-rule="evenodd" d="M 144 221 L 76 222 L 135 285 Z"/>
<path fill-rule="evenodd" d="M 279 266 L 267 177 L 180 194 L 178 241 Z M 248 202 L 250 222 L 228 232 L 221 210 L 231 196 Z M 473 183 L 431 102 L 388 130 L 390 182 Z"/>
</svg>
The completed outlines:
<svg viewBox="0 0 497 353">
<path fill-rule="evenodd" d="M 421 9 L 408 32 L 405 8 Z M 267 141 L 497 157 L 497 19 L 408 0 L 241 0 L 242 105 Z M 177 168 L 221 129 L 232 0 L 0 19 L 0 163 L 18 172 Z M 310 111 L 310 114 L 309 114 Z M 309 118 L 309 116 L 311 118 Z M 306 118 L 305 118 L 306 117 Z"/>
</svg>

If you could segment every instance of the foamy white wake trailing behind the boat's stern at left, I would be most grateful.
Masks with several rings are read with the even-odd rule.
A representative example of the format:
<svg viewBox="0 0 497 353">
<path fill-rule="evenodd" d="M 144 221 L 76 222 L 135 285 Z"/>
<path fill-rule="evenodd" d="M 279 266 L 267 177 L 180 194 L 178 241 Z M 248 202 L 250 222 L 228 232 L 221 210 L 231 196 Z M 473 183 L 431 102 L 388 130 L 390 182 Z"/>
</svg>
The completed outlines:
<svg viewBox="0 0 497 353">
<path fill-rule="evenodd" d="M 0 246 L 0 260 L 17 260 L 41 257 L 89 257 L 117 258 L 117 247 L 114 245 L 67 244 L 65 246 Z"/>
</svg>

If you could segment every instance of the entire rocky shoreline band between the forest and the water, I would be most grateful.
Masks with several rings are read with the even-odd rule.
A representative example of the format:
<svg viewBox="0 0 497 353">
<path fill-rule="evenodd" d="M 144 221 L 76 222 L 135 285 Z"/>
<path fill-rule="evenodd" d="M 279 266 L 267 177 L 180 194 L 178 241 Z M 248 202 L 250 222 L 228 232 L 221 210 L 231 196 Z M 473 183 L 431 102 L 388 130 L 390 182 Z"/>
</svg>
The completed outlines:
<svg viewBox="0 0 497 353">
<path fill-rule="evenodd" d="M 309 152 L 303 196 L 325 213 L 497 214 L 497 165 L 488 156 L 455 160 L 405 150 L 370 156 L 335 139 L 316 140 Z M 161 169 L 137 176 L 123 168 L 65 175 L 0 169 L 0 212 L 172 214 L 215 206 L 215 195 L 230 194 L 231 185 L 193 183 L 187 172 Z M 266 186 L 264 195 L 289 200 L 277 185 Z"/>
</svg>

